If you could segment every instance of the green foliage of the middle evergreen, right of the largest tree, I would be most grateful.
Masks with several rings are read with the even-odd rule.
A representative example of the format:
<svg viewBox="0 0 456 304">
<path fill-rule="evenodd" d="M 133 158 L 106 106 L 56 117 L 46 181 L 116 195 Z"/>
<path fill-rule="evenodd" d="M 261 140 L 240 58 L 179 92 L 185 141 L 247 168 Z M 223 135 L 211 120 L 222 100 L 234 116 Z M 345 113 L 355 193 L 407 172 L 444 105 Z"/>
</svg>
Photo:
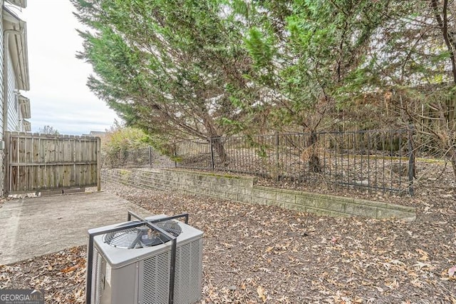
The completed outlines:
<svg viewBox="0 0 456 304">
<path fill-rule="evenodd" d="M 388 3 L 254 1 L 248 15 L 239 13 L 254 24 L 245 31 L 244 47 L 254 66 L 246 78 L 249 91 L 259 92 L 261 103 L 253 105 L 269 108 L 258 111 L 269 116 L 268 128 L 302 131 L 331 123 L 339 100 L 374 79 L 366 69 L 366 50 L 390 18 L 383 14 Z"/>
</svg>

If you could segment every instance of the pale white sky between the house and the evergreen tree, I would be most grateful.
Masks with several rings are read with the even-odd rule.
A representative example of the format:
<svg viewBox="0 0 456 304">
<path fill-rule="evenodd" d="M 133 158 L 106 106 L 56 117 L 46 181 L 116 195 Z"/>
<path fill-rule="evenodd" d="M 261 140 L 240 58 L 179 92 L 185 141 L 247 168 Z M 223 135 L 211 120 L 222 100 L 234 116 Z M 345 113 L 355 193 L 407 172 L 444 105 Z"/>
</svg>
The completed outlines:
<svg viewBox="0 0 456 304">
<path fill-rule="evenodd" d="M 27 22 L 31 89 L 22 94 L 30 98 L 32 131 L 52 126 L 61 134 L 81 135 L 120 121 L 86 86 L 92 69 L 75 57 L 82 50 L 76 32 L 82 26 L 70 1 L 29 0 L 22 12 L 11 10 Z"/>
</svg>

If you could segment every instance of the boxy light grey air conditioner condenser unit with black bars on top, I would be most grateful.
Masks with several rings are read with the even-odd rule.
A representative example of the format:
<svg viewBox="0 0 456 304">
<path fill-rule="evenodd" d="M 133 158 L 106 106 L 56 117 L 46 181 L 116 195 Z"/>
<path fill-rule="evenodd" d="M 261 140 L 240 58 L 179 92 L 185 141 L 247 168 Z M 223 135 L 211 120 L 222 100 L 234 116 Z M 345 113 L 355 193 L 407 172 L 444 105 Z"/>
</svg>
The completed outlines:
<svg viewBox="0 0 456 304">
<path fill-rule="evenodd" d="M 90 303 L 190 304 L 201 298 L 203 233 L 174 219 L 177 216 L 167 218 L 152 216 L 89 230 Z"/>
</svg>

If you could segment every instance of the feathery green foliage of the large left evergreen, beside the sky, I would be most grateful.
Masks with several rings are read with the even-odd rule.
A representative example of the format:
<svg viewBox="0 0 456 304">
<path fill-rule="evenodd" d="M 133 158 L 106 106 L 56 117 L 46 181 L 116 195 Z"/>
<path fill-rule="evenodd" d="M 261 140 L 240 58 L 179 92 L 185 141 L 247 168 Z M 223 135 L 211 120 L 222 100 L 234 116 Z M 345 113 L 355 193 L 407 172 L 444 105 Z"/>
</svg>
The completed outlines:
<svg viewBox="0 0 456 304">
<path fill-rule="evenodd" d="M 229 97 L 249 66 L 223 1 L 72 2 L 91 28 L 78 54 L 95 71 L 88 86 L 129 126 L 165 138 L 231 132 L 220 121 L 243 115 Z"/>
</svg>

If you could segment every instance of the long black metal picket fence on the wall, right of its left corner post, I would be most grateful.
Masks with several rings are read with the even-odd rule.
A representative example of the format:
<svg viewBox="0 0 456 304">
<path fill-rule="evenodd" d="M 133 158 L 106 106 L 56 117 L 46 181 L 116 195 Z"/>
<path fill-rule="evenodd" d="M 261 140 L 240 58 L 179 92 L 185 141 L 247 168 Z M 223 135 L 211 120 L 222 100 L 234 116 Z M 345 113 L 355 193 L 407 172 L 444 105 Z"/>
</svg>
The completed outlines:
<svg viewBox="0 0 456 304">
<path fill-rule="evenodd" d="M 175 143 L 175 166 L 413 194 L 412 147 L 408 130 L 233 136 Z"/>
</svg>

